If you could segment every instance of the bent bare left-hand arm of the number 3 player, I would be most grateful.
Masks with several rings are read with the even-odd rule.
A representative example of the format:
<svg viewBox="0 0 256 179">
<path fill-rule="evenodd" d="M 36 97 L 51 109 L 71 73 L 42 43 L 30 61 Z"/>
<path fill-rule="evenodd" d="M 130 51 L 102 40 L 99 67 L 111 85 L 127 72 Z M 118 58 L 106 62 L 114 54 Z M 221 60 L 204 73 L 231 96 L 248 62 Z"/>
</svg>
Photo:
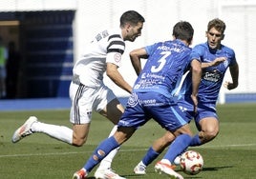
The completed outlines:
<svg viewBox="0 0 256 179">
<path fill-rule="evenodd" d="M 140 58 L 147 58 L 147 52 L 144 48 L 138 49 L 138 50 L 132 50 L 130 52 L 130 59 L 132 62 L 132 65 L 134 67 L 134 70 L 136 71 L 137 75 L 139 75 L 139 72 L 141 70 L 141 62 Z"/>
</svg>

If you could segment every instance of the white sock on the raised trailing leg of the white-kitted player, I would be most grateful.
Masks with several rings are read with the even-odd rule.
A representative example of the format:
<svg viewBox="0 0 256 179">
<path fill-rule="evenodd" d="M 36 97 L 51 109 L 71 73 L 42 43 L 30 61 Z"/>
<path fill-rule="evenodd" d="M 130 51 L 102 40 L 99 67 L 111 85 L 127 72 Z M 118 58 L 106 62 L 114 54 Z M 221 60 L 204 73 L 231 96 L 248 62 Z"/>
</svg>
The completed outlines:
<svg viewBox="0 0 256 179">
<path fill-rule="evenodd" d="M 35 122 L 32 124 L 32 131 L 41 132 L 58 139 L 60 141 L 66 142 L 72 145 L 73 141 L 73 129 L 69 129 L 64 126 L 57 126 L 51 124 L 45 124 L 41 122 Z"/>
</svg>

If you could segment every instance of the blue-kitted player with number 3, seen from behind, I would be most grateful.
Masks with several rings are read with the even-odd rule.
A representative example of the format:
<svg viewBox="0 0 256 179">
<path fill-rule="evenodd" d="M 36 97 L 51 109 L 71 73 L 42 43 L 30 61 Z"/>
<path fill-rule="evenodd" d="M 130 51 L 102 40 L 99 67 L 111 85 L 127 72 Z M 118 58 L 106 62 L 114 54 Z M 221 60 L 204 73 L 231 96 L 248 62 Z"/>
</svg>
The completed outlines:
<svg viewBox="0 0 256 179">
<path fill-rule="evenodd" d="M 75 172 L 74 179 L 86 178 L 112 149 L 116 149 L 127 141 L 151 118 L 162 128 L 181 138 L 184 149 L 190 144 L 192 131 L 184 120 L 184 113 L 174 101 L 173 92 L 181 81 L 183 71 L 191 69 L 193 86 L 191 99 L 194 106 L 197 106 L 202 69 L 199 60 L 191 61 L 189 58 L 191 52 L 189 45 L 193 34 L 192 26 L 188 22 L 181 21 L 173 28 L 173 41 L 160 42 L 131 51 L 132 64 L 137 72 L 141 70 L 140 58 L 147 58 L 147 62 L 139 73 L 127 107 L 117 124 L 117 131 L 99 144 L 84 167 Z M 168 169 L 168 174 L 182 178 L 172 169 Z"/>
</svg>

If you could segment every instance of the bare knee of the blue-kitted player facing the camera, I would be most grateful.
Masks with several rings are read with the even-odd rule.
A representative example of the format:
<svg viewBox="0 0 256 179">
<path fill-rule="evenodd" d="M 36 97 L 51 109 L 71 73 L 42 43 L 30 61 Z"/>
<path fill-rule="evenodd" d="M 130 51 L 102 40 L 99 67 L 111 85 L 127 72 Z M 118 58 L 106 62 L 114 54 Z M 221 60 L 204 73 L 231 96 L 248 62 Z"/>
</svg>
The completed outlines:
<svg viewBox="0 0 256 179">
<path fill-rule="evenodd" d="M 219 132 L 219 120 L 215 117 L 205 117 L 199 122 L 203 131 Z"/>
</svg>

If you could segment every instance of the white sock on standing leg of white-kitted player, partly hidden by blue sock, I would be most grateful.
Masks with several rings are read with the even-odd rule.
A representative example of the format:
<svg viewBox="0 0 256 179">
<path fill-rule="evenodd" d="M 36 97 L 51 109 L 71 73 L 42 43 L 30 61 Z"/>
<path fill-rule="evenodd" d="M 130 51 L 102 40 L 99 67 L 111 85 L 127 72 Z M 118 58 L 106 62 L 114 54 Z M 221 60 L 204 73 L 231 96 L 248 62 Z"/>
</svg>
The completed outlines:
<svg viewBox="0 0 256 179">
<path fill-rule="evenodd" d="M 117 131 L 117 125 L 111 130 L 109 137 L 114 135 L 114 133 Z M 113 149 L 99 164 L 98 169 L 109 169 L 111 168 L 111 164 L 113 161 L 113 158 L 115 157 L 115 155 L 117 154 L 117 151 L 120 148 L 118 147 L 117 149 Z"/>
</svg>

